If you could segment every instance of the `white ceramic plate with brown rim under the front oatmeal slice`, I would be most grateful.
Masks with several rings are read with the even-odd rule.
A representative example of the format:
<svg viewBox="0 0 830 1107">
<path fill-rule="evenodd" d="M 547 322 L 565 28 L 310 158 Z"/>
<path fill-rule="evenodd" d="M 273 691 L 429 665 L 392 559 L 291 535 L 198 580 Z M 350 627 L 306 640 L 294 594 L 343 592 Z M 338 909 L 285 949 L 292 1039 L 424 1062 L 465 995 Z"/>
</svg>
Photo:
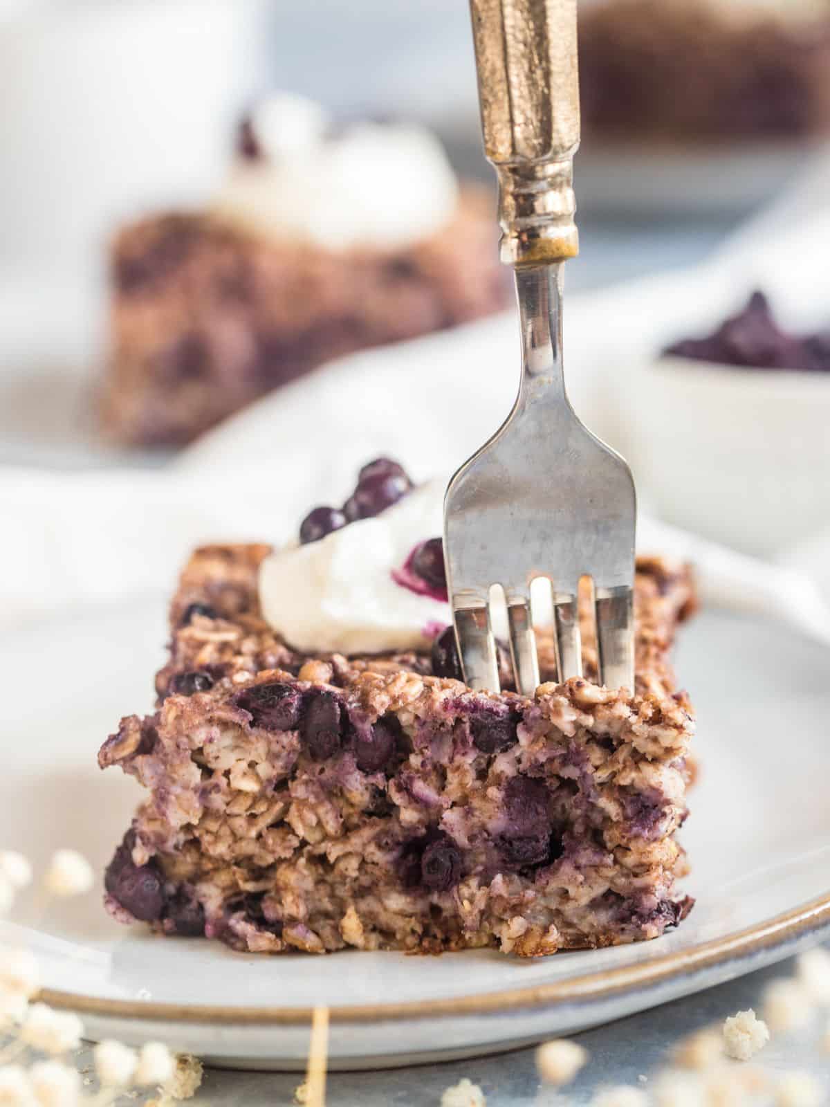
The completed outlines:
<svg viewBox="0 0 830 1107">
<path fill-rule="evenodd" d="M 120 715 L 151 702 L 163 602 L 62 617 L 3 643 L 0 845 L 42 863 L 59 845 L 103 867 L 137 787 L 98 773 Z M 310 1007 L 332 1008 L 333 1067 L 505 1049 L 715 984 L 830 929 L 828 654 L 779 628 L 709 613 L 678 670 L 699 712 L 701 783 L 685 830 L 698 903 L 650 943 L 520 962 L 495 952 L 247 956 L 126 930 L 97 893 L 40 913 L 23 899 L 0 941 L 30 944 L 50 1002 L 92 1037 L 172 1045 L 238 1067 L 302 1067 Z"/>
</svg>

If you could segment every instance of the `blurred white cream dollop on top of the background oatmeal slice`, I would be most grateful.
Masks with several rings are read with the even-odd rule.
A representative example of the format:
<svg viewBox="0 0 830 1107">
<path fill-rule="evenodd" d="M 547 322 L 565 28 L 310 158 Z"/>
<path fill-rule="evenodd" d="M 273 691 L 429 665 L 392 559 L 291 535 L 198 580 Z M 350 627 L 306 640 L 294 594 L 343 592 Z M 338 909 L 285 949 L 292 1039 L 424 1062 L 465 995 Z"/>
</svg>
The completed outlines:
<svg viewBox="0 0 830 1107">
<path fill-rule="evenodd" d="M 414 124 L 332 121 L 302 96 L 280 94 L 250 122 L 260 156 L 240 159 L 212 211 L 251 230 L 314 242 L 394 249 L 440 230 L 458 182 L 438 139 Z"/>
</svg>

